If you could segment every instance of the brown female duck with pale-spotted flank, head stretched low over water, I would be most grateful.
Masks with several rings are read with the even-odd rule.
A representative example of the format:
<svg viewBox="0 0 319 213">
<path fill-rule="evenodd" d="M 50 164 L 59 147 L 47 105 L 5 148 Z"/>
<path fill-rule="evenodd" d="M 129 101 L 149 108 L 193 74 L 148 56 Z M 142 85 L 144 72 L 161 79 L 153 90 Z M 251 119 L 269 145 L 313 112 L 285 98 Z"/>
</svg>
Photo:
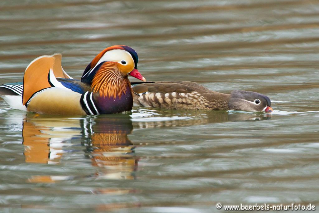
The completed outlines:
<svg viewBox="0 0 319 213">
<path fill-rule="evenodd" d="M 134 84 L 134 83 L 132 83 Z M 163 81 L 132 85 L 135 105 L 178 110 L 242 110 L 272 112 L 271 101 L 256 92 L 234 90 L 224 94 L 190 81 Z"/>
</svg>

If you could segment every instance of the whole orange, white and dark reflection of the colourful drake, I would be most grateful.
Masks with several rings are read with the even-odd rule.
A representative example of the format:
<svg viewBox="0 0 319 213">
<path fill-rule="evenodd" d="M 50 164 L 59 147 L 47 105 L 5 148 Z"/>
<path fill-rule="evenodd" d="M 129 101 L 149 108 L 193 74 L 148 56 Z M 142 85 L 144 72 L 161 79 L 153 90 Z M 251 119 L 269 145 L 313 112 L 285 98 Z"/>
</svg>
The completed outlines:
<svg viewBox="0 0 319 213">
<path fill-rule="evenodd" d="M 127 136 L 132 130 L 129 115 L 53 119 L 47 115 L 27 114 L 22 131 L 25 161 L 59 164 L 64 153 L 78 153 L 84 149 L 92 165 L 99 167 L 91 177 L 134 179 L 137 160 L 133 155 L 134 146 Z M 78 177 L 33 176 L 30 181 L 54 182 L 74 178 Z"/>
</svg>

